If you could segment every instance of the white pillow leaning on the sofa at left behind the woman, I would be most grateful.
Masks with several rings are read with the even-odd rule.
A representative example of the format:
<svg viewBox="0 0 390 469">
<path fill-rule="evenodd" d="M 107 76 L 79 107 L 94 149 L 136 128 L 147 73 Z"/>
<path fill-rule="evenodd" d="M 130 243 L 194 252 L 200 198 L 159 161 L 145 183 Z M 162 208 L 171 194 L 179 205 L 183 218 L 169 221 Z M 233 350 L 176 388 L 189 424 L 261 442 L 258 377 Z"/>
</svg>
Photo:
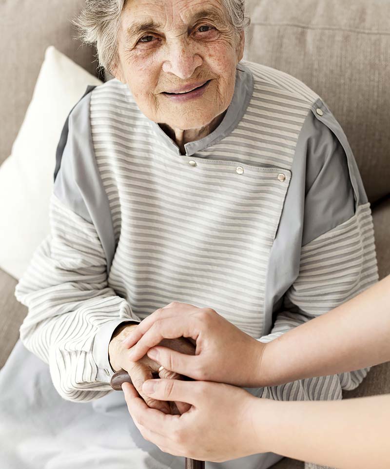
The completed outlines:
<svg viewBox="0 0 390 469">
<path fill-rule="evenodd" d="M 33 98 L 0 166 L 0 268 L 20 279 L 50 233 L 49 199 L 66 117 L 88 85 L 102 82 L 49 46 Z"/>
</svg>

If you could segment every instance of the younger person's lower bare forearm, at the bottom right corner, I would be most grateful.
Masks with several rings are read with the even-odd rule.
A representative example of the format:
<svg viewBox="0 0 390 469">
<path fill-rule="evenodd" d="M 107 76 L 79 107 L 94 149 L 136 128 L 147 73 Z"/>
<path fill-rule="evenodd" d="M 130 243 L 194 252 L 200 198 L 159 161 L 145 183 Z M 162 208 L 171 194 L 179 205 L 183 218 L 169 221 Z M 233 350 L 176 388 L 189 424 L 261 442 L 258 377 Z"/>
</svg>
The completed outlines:
<svg viewBox="0 0 390 469">
<path fill-rule="evenodd" d="M 390 395 L 252 405 L 257 448 L 332 468 L 390 468 Z"/>
</svg>

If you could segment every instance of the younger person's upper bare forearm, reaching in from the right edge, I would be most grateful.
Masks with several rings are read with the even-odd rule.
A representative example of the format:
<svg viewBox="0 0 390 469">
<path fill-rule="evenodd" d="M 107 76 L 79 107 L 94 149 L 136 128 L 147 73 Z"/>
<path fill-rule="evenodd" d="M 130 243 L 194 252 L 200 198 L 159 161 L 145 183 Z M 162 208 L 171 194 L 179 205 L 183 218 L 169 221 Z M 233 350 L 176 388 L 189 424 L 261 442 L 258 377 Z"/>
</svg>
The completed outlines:
<svg viewBox="0 0 390 469">
<path fill-rule="evenodd" d="M 329 313 L 269 342 L 259 386 L 370 367 L 390 360 L 390 276 Z"/>
</svg>

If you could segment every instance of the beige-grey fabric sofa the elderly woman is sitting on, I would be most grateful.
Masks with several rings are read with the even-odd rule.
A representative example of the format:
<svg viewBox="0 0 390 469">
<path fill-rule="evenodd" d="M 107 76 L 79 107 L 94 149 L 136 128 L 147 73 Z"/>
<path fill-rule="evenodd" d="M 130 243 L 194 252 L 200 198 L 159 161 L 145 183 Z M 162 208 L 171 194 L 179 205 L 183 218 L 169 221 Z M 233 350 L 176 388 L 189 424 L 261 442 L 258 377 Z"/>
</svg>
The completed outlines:
<svg viewBox="0 0 390 469">
<path fill-rule="evenodd" d="M 49 45 L 95 77 L 110 78 L 98 71 L 96 51 L 74 39 L 70 20 L 83 3 L 41 0 L 32 7 L 25 0 L 0 2 L 0 165 L 11 153 Z M 383 278 L 390 274 L 390 0 L 247 0 L 247 14 L 251 24 L 244 59 L 301 79 L 343 127 L 371 203 Z M 0 367 L 27 314 L 14 296 L 17 282 L 0 269 Z M 344 398 L 387 392 L 390 363 L 372 367 Z M 274 469 L 303 467 L 302 461 L 284 458 Z"/>
</svg>

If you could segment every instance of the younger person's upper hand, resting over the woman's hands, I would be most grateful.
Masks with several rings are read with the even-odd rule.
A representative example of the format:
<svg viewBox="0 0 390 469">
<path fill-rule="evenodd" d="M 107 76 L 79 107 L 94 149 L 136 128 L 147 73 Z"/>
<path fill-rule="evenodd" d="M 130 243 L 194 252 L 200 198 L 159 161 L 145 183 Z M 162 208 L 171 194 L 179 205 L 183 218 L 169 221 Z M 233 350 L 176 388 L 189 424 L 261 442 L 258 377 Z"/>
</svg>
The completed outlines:
<svg viewBox="0 0 390 469">
<path fill-rule="evenodd" d="M 161 347 L 163 338 L 190 337 L 195 356 Z M 158 345 L 158 347 L 155 347 Z M 145 318 L 124 340 L 128 357 L 146 353 L 167 370 L 196 380 L 257 388 L 265 378 L 260 368 L 265 345 L 242 332 L 211 308 L 173 302 Z"/>
</svg>

